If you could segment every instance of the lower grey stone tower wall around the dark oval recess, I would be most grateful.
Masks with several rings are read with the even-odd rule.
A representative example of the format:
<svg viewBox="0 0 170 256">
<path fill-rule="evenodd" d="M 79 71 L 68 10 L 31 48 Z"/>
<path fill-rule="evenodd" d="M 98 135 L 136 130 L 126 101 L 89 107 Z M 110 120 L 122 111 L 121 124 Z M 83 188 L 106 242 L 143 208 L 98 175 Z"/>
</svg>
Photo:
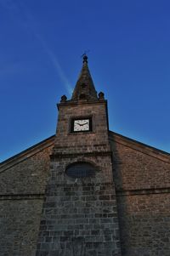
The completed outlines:
<svg viewBox="0 0 170 256">
<path fill-rule="evenodd" d="M 37 256 L 121 255 L 111 156 L 96 156 L 94 178 L 71 179 L 65 168 L 81 159 L 94 162 L 94 156 L 88 156 L 53 163 Z"/>
</svg>

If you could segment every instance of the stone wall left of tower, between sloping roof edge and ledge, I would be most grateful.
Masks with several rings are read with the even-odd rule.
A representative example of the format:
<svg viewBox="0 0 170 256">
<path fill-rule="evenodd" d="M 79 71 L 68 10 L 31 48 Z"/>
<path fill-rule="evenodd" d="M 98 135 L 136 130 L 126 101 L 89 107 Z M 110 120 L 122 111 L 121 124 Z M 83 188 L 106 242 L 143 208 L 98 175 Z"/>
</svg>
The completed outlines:
<svg viewBox="0 0 170 256">
<path fill-rule="evenodd" d="M 1 172 L 0 195 L 43 193 L 49 174 L 49 154 L 52 146 L 37 152 L 13 167 Z M 7 166 L 8 167 L 8 166 Z"/>
</svg>

